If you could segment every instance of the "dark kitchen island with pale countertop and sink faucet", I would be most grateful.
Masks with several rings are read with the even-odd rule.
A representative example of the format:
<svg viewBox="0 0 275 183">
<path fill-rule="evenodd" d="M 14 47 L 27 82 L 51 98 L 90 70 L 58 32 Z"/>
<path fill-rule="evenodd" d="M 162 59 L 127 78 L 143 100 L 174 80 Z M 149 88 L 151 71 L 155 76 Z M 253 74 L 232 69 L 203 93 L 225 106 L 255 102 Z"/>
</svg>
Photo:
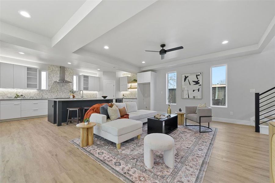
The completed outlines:
<svg viewBox="0 0 275 183">
<path fill-rule="evenodd" d="M 48 99 L 48 121 L 56 126 L 67 122 L 67 108 L 90 107 L 100 103 L 110 103 L 113 99 L 103 98 L 80 98 L 80 99 Z M 82 110 L 81 110 L 82 112 Z M 72 117 L 74 117 L 72 115 Z M 83 118 L 83 114 L 81 113 Z"/>
</svg>

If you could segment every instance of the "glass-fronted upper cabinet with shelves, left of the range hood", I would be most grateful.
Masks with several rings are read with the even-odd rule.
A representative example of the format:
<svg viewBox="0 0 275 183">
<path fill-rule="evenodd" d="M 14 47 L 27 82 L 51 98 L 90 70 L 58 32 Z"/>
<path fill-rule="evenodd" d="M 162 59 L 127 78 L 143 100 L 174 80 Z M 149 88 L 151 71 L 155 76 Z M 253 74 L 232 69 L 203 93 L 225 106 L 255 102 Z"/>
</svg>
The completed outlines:
<svg viewBox="0 0 275 183">
<path fill-rule="evenodd" d="M 38 89 L 38 68 L 25 66 L 26 89 Z"/>
</svg>

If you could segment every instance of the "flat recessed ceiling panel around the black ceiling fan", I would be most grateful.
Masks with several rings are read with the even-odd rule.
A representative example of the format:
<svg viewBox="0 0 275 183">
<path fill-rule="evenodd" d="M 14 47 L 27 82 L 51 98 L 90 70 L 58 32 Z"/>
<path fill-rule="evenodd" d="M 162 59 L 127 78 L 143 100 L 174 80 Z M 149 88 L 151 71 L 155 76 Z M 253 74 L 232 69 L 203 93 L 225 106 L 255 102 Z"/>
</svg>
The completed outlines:
<svg viewBox="0 0 275 183">
<path fill-rule="evenodd" d="M 143 67 L 254 45 L 274 7 L 275 1 L 157 1 L 81 49 Z M 184 49 L 167 53 L 164 60 L 157 52 L 144 52 L 159 51 L 161 44 Z"/>
</svg>

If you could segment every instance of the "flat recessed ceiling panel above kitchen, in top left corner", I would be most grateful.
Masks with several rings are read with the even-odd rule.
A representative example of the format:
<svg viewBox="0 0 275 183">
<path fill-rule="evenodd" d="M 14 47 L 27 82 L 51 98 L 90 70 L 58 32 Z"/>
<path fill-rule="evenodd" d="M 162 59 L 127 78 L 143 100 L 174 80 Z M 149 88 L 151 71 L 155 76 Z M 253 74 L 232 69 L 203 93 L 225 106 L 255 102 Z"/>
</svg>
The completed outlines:
<svg viewBox="0 0 275 183">
<path fill-rule="evenodd" d="M 84 2 L 85 0 L 1 0 L 0 20 L 1 22 L 52 38 Z M 19 10 L 27 11 L 32 18 L 24 18 L 18 13 Z"/>
</svg>

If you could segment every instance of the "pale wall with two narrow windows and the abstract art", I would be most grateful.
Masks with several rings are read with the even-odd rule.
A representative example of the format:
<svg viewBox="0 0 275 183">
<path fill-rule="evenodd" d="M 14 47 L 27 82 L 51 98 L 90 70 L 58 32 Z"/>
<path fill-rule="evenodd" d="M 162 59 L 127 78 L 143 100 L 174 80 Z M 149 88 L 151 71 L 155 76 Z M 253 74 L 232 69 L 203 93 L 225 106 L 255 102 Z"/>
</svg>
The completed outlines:
<svg viewBox="0 0 275 183">
<path fill-rule="evenodd" d="M 200 102 L 210 106 L 210 67 L 225 63 L 228 67 L 228 107 L 213 107 L 213 117 L 223 118 L 216 120 L 225 122 L 250 124 L 250 118 L 254 116 L 254 93 L 250 93 L 250 89 L 255 88 L 261 93 L 275 85 L 275 38 L 259 54 L 158 70 L 156 110 L 167 110 L 166 73 L 169 71 L 177 71 L 177 104 L 172 105 L 172 112 L 179 108 L 184 110 L 185 106 L 197 106 Z M 181 75 L 195 72 L 203 72 L 202 99 L 181 99 Z"/>
</svg>

